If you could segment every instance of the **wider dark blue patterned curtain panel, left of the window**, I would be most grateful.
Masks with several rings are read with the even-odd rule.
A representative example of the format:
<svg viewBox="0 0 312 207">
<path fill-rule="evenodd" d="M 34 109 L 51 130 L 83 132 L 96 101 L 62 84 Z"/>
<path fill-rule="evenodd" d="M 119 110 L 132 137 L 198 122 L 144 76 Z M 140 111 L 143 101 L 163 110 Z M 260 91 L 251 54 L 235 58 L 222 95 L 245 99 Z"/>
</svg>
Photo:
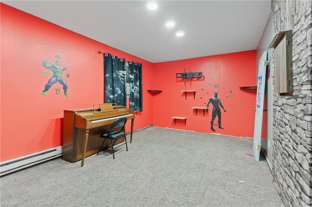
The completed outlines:
<svg viewBox="0 0 312 207">
<path fill-rule="evenodd" d="M 104 103 L 126 106 L 126 61 L 109 53 L 103 54 Z"/>
</svg>

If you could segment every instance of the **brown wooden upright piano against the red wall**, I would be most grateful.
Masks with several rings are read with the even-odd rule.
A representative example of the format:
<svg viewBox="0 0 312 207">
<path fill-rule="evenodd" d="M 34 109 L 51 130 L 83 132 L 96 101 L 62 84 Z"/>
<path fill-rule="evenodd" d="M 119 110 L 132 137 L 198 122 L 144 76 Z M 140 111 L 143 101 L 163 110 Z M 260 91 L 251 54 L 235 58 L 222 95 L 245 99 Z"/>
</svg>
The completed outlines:
<svg viewBox="0 0 312 207">
<path fill-rule="evenodd" d="M 99 135 L 107 132 L 110 125 L 121 117 L 131 119 L 131 143 L 135 112 L 125 106 L 105 103 L 95 104 L 93 108 L 65 109 L 62 158 L 70 162 L 81 159 L 82 167 L 85 157 L 98 152 L 103 141 Z"/>
</svg>

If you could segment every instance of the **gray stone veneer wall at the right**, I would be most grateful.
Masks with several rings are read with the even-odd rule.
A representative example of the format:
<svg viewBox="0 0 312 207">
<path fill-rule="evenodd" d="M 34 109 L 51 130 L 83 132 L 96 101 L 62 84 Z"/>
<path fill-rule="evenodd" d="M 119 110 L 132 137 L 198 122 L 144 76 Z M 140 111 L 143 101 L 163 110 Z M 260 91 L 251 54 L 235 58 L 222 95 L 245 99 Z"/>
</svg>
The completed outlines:
<svg viewBox="0 0 312 207">
<path fill-rule="evenodd" d="M 311 206 L 312 1 L 273 0 L 271 12 L 274 35 L 292 30 L 293 73 L 293 95 L 273 95 L 274 183 L 285 206 Z"/>
</svg>

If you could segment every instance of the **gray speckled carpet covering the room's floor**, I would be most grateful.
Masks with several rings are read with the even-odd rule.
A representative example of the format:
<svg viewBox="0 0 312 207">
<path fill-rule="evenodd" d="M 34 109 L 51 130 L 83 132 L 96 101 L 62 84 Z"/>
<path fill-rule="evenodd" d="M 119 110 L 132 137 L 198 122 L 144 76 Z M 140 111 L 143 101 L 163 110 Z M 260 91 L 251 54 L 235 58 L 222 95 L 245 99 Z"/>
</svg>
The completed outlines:
<svg viewBox="0 0 312 207">
<path fill-rule="evenodd" d="M 130 140 L 130 136 L 127 136 Z M 0 178 L 1 206 L 281 207 L 253 139 L 149 127 L 132 143 L 70 163 L 57 158 Z"/>
</svg>

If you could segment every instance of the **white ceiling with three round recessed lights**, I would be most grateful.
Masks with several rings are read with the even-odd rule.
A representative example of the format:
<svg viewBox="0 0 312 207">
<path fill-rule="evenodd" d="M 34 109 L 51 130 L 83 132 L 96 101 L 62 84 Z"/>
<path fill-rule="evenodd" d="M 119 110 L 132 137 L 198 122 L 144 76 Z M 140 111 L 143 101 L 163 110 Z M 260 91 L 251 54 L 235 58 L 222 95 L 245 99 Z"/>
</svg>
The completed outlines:
<svg viewBox="0 0 312 207">
<path fill-rule="evenodd" d="M 271 13 L 271 0 L 1 2 L 152 63 L 255 50 Z"/>
</svg>

